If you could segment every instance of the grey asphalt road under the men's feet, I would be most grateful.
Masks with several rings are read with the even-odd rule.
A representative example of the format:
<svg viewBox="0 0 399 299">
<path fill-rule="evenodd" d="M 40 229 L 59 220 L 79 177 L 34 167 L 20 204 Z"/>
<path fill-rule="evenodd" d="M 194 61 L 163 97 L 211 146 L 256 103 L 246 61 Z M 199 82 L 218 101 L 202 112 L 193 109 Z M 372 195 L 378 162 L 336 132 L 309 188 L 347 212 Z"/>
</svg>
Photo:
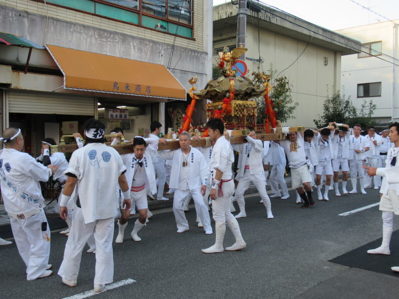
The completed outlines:
<svg viewBox="0 0 399 299">
<path fill-rule="evenodd" d="M 137 282 L 95 298 L 398 298 L 399 275 L 328 262 L 382 236 L 378 206 L 338 215 L 379 201 L 378 190 L 367 191 L 367 195 L 341 197 L 330 191 L 329 202 L 300 209 L 291 190 L 289 199 L 272 199 L 274 219 L 266 219 L 259 197 L 249 195 L 247 217 L 238 219 L 247 248 L 238 252 L 201 253 L 215 236 L 197 228 L 193 207 L 186 213 L 191 229 L 183 234 L 176 232 L 170 210 L 158 211 L 140 231 L 142 241 L 134 242 L 130 239 L 134 220 L 130 220 L 124 243 L 114 244 L 114 282 L 128 278 Z M 114 238 L 116 234 L 117 229 Z M 50 263 L 55 273 L 33 282 L 25 280 L 15 245 L 0 247 L 2 298 L 61 299 L 93 289 L 95 255 L 83 252 L 78 285 L 67 287 L 56 275 L 66 237 L 58 232 L 51 236 Z M 224 246 L 233 243 L 226 229 Z M 391 266 L 399 265 L 387 265 Z"/>
</svg>

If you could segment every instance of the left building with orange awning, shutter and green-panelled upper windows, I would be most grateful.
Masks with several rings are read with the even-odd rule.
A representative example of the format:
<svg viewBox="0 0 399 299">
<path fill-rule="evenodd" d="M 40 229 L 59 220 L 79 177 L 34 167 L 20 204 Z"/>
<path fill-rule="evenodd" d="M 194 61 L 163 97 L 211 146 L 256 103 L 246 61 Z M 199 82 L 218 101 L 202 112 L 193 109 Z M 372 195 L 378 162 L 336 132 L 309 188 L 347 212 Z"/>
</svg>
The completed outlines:
<svg viewBox="0 0 399 299">
<path fill-rule="evenodd" d="M 126 139 L 155 120 L 176 130 L 188 80 L 211 77 L 211 10 L 211 0 L 0 0 L 1 131 L 20 127 L 37 154 L 41 139 L 83 133 L 93 116 Z"/>
</svg>

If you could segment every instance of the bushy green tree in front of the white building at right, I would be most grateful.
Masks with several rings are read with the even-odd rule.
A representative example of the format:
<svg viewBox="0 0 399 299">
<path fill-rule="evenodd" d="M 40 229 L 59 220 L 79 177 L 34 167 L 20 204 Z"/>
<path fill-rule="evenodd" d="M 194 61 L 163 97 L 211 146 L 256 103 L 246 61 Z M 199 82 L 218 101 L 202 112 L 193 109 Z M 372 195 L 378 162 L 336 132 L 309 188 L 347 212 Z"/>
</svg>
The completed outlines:
<svg viewBox="0 0 399 299">
<path fill-rule="evenodd" d="M 317 128 L 324 128 L 329 122 L 344 123 L 350 127 L 360 124 L 367 128 L 377 124 L 372 118 L 376 108 L 373 100 L 367 102 L 364 99 L 362 108 L 358 111 L 351 101 L 351 96 L 346 97 L 345 92 L 337 91 L 331 97 L 327 95 L 323 104 L 323 114 L 313 121 Z"/>
</svg>

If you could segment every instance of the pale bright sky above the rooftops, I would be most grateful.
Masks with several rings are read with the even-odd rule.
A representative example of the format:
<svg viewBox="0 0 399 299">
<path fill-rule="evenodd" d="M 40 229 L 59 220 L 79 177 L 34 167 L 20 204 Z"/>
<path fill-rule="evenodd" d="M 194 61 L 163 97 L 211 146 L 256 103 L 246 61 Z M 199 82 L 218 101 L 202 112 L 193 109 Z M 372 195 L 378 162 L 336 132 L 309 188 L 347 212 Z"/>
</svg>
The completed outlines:
<svg viewBox="0 0 399 299">
<path fill-rule="evenodd" d="M 251 0 L 248 0 L 251 1 Z M 256 2 L 257 0 L 252 0 Z M 354 0 L 379 13 L 377 15 L 351 0 L 260 0 L 270 6 L 330 30 L 345 29 L 399 19 L 399 0 Z M 230 0 L 213 0 L 213 5 L 231 3 Z M 384 17 L 383 17 L 384 16 Z"/>
</svg>

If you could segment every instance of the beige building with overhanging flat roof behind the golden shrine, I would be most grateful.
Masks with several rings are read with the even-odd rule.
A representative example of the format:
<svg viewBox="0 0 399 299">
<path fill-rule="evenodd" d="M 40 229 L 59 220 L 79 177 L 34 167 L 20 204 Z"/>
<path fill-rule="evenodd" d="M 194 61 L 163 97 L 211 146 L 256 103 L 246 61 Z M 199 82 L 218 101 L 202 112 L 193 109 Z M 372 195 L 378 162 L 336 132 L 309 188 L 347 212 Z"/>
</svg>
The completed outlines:
<svg viewBox="0 0 399 299">
<path fill-rule="evenodd" d="M 236 45 L 237 7 L 213 7 L 213 55 Z M 360 43 L 293 15 L 248 1 L 245 62 L 249 74 L 270 68 L 287 76 L 299 106 L 285 125 L 314 127 L 327 96 L 341 87 L 341 56 L 358 53 Z M 261 62 L 259 62 L 261 57 Z M 256 61 L 257 60 L 257 61 Z M 216 64 L 216 60 L 213 61 Z"/>
</svg>

